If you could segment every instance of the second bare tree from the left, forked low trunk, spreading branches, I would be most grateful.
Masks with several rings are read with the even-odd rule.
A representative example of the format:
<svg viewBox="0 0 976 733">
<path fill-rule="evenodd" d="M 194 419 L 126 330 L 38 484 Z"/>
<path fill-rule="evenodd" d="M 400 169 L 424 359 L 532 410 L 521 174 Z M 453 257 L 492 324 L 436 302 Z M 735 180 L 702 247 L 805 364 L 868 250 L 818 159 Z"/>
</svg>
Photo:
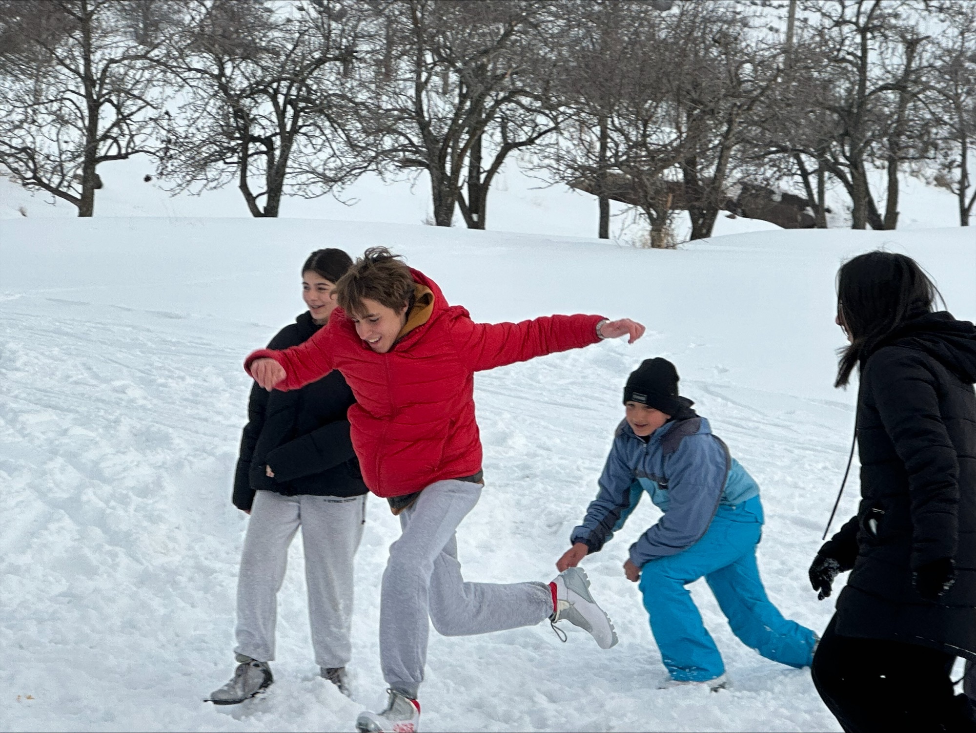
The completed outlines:
<svg viewBox="0 0 976 733">
<path fill-rule="evenodd" d="M 371 155 L 352 80 L 363 16 L 350 0 L 183 3 L 166 65 L 184 85 L 160 175 L 174 191 L 236 182 L 255 217 L 337 190 Z"/>
</svg>

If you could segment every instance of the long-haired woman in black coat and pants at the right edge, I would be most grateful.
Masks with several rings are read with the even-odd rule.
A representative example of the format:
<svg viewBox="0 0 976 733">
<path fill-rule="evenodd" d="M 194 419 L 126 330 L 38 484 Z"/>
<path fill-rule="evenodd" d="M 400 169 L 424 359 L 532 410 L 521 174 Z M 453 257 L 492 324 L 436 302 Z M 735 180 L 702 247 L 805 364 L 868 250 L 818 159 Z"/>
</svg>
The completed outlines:
<svg viewBox="0 0 976 733">
<path fill-rule="evenodd" d="M 836 386 L 860 370 L 857 516 L 810 567 L 820 597 L 852 571 L 813 660 L 846 731 L 976 730 L 950 672 L 976 659 L 976 327 L 933 312 L 921 268 L 891 252 L 837 275 L 847 334 Z"/>
</svg>

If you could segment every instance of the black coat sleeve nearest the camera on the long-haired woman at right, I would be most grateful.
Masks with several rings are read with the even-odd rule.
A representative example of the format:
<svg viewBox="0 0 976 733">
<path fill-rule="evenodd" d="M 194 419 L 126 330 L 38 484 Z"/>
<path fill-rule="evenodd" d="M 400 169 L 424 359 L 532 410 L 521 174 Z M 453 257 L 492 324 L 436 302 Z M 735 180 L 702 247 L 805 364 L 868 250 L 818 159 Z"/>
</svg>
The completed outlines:
<svg viewBox="0 0 976 733">
<path fill-rule="evenodd" d="M 936 377 L 924 354 L 897 347 L 876 352 L 865 372 L 881 424 L 908 474 L 912 569 L 955 558 L 959 464 L 939 410 Z"/>
</svg>

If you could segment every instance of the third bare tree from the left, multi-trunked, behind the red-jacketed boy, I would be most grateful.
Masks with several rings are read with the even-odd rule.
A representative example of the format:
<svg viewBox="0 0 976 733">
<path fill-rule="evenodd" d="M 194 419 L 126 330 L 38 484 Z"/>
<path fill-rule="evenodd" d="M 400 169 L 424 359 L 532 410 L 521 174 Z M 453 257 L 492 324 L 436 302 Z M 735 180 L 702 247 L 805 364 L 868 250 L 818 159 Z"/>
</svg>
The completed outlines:
<svg viewBox="0 0 976 733">
<path fill-rule="evenodd" d="M 386 131 L 386 170 L 427 171 L 437 226 L 451 226 L 460 206 L 468 227 L 484 229 L 488 192 L 508 154 L 555 127 L 540 82 L 550 6 L 385 0 L 372 7 L 383 41 L 364 87 Z"/>
</svg>

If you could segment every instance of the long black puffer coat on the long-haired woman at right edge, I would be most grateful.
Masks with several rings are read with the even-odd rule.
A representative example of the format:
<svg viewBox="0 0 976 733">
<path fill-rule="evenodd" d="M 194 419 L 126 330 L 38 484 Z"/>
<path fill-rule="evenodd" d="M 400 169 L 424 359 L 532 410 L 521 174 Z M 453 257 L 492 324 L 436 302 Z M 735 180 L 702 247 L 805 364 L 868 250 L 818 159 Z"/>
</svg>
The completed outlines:
<svg viewBox="0 0 976 733">
<path fill-rule="evenodd" d="M 821 552 L 853 571 L 836 631 L 976 659 L 976 327 L 918 317 L 869 355 L 858 395 L 861 504 Z M 912 572 L 956 561 L 922 598 Z"/>
</svg>

